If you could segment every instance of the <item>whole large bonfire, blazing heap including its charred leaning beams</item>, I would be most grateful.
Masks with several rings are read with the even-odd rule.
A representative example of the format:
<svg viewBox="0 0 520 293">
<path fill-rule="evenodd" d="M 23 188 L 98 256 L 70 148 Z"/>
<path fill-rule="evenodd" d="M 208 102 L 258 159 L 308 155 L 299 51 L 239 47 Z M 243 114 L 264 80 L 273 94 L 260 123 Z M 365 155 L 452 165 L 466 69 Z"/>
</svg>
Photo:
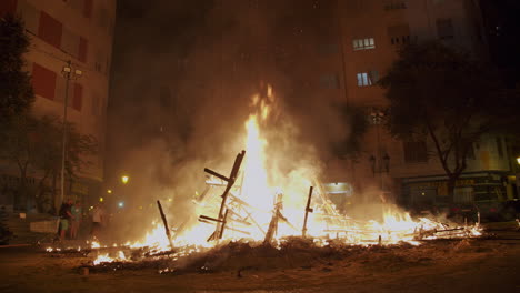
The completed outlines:
<svg viewBox="0 0 520 293">
<path fill-rule="evenodd" d="M 263 134 L 273 115 L 274 102 L 270 87 L 264 97 L 252 98 L 254 111 L 244 123 L 244 151 L 237 156 L 237 171 L 240 171 L 231 174 L 234 178 L 226 178 L 209 170 L 211 175 L 207 176 L 206 191 L 193 199 L 197 215 L 200 215 L 198 221 L 187 219 L 176 223 L 174 229 L 167 226 L 169 233 L 166 233 L 166 221 L 159 220 L 151 224 L 150 232 L 141 241 L 122 245 L 91 242 L 91 249 L 112 247 L 110 253 L 98 253 L 93 264 L 134 262 L 128 251 L 137 249 L 149 255 L 170 252 L 169 257 L 177 260 L 230 242 L 278 247 L 294 236 L 321 246 L 331 240 L 344 245 L 400 242 L 419 245 L 419 240 L 426 239 L 480 235 L 478 224 L 449 228 L 429 219 L 413 220 L 391 206 L 381 210 L 383 220 L 379 222 L 357 221 L 341 214 L 316 179 L 312 166 L 303 165 L 301 170 L 283 174 L 278 168 L 281 163 L 270 161 L 283 156 L 267 153 L 269 142 Z"/>
</svg>

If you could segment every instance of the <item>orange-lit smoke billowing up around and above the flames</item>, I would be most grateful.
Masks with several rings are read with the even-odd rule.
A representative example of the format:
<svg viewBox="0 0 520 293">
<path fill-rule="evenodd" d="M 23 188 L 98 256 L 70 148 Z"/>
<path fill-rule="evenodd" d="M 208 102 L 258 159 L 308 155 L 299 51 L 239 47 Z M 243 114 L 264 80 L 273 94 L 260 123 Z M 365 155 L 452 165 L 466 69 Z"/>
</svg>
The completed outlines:
<svg viewBox="0 0 520 293">
<path fill-rule="evenodd" d="M 243 148 L 250 99 L 268 83 L 280 101 L 273 131 L 266 133 L 268 148 L 276 150 L 268 152 L 277 162 L 269 169 L 286 174 L 271 180 L 277 184 L 320 175 L 332 156 L 331 145 L 348 138 L 350 128 L 314 89 L 320 77 L 303 62 L 322 33 L 307 23 L 309 16 L 316 14 L 317 23 L 326 21 L 314 2 L 119 3 L 106 182 L 114 189 L 108 203 L 126 205 L 111 209 L 113 236 L 142 236 L 158 220 L 158 199 L 171 225 L 192 221 L 193 195 L 204 188 L 203 168 L 228 174 Z M 303 73 L 289 75 L 294 65 Z M 300 82 L 306 79 L 317 84 Z M 124 186 L 118 183 L 122 173 L 130 175 Z M 300 188 L 287 189 L 288 194 L 302 194 Z"/>
</svg>

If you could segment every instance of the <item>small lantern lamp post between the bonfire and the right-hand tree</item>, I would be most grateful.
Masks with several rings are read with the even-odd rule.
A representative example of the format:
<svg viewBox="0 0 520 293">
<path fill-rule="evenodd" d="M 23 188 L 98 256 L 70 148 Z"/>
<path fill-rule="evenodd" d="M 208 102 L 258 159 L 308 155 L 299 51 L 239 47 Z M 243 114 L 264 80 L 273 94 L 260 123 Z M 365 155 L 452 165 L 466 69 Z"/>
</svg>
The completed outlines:
<svg viewBox="0 0 520 293">
<path fill-rule="evenodd" d="M 369 158 L 370 166 L 372 168 L 372 174 L 376 176 L 376 173 L 380 174 L 381 191 L 384 191 L 383 176 L 382 173 L 390 172 L 390 155 L 387 152 L 381 150 L 381 142 L 379 138 L 379 127 L 383 122 L 386 113 L 381 109 L 373 108 L 370 112 L 370 122 L 376 125 L 376 155 L 372 154 Z"/>
</svg>

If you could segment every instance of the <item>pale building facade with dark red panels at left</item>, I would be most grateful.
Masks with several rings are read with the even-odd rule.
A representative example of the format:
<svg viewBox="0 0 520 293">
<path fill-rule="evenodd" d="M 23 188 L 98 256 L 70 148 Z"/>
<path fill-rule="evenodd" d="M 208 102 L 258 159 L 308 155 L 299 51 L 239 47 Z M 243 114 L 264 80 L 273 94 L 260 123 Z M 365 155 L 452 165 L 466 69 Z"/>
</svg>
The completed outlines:
<svg viewBox="0 0 520 293">
<path fill-rule="evenodd" d="M 79 179 L 66 184 L 66 196 L 86 200 L 103 180 L 116 0 L 3 0 L 0 12 L 20 16 L 31 39 L 26 70 L 36 94 L 33 114 L 62 120 L 68 85 L 67 121 L 99 144 L 99 153 L 86 158 L 89 165 Z M 63 68 L 69 62 L 72 74 L 68 80 Z M 3 181 L 12 180 L 13 174 L 3 171 Z"/>
</svg>

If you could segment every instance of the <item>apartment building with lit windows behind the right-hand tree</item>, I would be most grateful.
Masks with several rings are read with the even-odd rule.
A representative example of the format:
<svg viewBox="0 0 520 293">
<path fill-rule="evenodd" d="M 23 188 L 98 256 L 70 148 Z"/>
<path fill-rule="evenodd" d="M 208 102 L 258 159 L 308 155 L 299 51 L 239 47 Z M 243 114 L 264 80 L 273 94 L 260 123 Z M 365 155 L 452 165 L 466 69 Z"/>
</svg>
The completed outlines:
<svg viewBox="0 0 520 293">
<path fill-rule="evenodd" d="M 354 172 L 359 191 L 372 190 L 366 201 L 394 196 L 404 205 L 443 205 L 447 176 L 424 142 L 394 140 L 382 123 L 384 91 L 376 83 L 398 57 L 401 46 L 440 40 L 487 58 L 479 1 L 349 0 L 339 1 L 344 53 L 344 98 L 367 109 L 370 127 L 357 162 L 342 162 L 344 176 Z M 488 135 L 473 145 L 468 168 L 457 182 L 454 201 L 470 203 L 507 199 L 510 163 L 503 137 Z M 348 168 L 347 168 L 348 166 Z M 350 174 L 352 176 L 352 174 Z"/>
</svg>

